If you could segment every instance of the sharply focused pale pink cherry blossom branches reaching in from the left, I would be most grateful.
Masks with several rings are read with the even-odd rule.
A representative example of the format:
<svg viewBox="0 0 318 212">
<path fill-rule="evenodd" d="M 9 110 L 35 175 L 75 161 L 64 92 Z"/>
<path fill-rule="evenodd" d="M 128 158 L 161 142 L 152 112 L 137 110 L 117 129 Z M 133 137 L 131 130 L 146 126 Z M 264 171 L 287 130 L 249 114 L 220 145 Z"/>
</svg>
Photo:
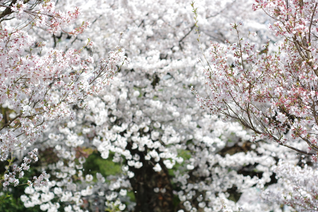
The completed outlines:
<svg viewBox="0 0 318 212">
<path fill-rule="evenodd" d="M 47 1 L 39 4 L 39 8 L 41 12 L 38 10 L 30 12 L 20 1 L 14 4 L 11 10 L 19 14 L 35 13 L 36 20 L 41 19 L 40 15 L 43 17 L 54 15 L 50 21 L 54 19 L 55 23 L 59 23 L 58 25 L 73 23 L 79 16 L 79 10 L 74 14 L 68 12 L 68 15 L 63 16 L 55 14 L 54 3 Z M 5 24 L 0 30 L 0 104 L 5 111 L 0 117 L 1 161 L 6 161 L 10 154 L 24 151 L 27 146 L 41 138 L 42 133 L 47 129 L 47 122 L 60 121 L 66 117 L 73 119 L 74 113 L 70 105 L 84 108 L 81 101 L 88 95 L 102 91 L 121 65 L 127 61 L 125 50 L 118 47 L 109 53 L 107 61 L 101 59 L 103 62 L 96 68 L 89 67 L 93 63 L 93 58 L 81 59 L 80 53 L 85 46 L 80 50 L 68 48 L 66 51 L 47 48 L 44 55 L 41 55 L 41 52 L 33 53 L 31 48 L 37 48 L 34 47 L 36 38 L 23 30 L 27 25 L 19 28 Z M 53 29 L 52 25 L 57 26 L 57 24 L 47 26 L 54 33 L 60 30 L 60 27 Z M 35 24 L 33 28 L 37 26 Z M 91 42 L 89 41 L 87 45 L 91 45 Z M 90 71 L 91 69 L 93 72 Z M 36 151 L 35 148 L 29 152 L 30 158 L 25 157 L 21 166 L 14 164 L 6 169 L 8 173 L 0 179 L 4 181 L 4 187 L 9 184 L 18 185 L 16 174 L 21 178 L 22 170 L 29 169 L 30 165 L 27 164 L 31 163 L 31 159 L 37 161 L 34 155 Z M 45 177 L 45 172 L 39 177 L 34 177 L 33 185 L 43 184 Z M 28 184 L 31 186 L 31 181 Z"/>
</svg>

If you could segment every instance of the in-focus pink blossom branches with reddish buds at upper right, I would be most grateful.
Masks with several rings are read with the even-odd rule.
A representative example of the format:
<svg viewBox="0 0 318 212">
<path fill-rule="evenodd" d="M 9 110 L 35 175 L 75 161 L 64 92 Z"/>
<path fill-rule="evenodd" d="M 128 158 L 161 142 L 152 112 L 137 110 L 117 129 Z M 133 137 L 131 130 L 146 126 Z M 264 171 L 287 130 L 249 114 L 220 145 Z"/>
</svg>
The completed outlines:
<svg viewBox="0 0 318 212">
<path fill-rule="evenodd" d="M 251 44 L 247 38 L 239 37 L 238 27 L 241 24 L 232 25 L 238 32 L 239 43 L 231 44 L 226 41 L 228 47 L 212 44 L 211 67 L 205 70 L 211 93 L 208 92 L 206 97 L 197 94 L 198 102 L 212 114 L 224 114 L 225 121 L 238 121 L 253 130 L 261 139 L 273 140 L 290 148 L 294 147 L 289 146 L 288 142 L 303 140 L 309 145 L 308 152 L 295 148 L 294 150 L 303 154 L 313 154 L 309 153 L 310 150 L 318 151 L 318 93 L 315 83 L 318 54 L 315 40 L 310 40 L 309 28 L 299 26 L 302 22 L 307 26 L 311 25 L 315 10 L 309 8 L 312 8 L 314 3 L 306 2 L 303 6 L 294 3 L 297 6 L 293 11 L 295 16 L 288 15 L 292 9 L 286 9 L 286 5 L 285 9 L 280 7 L 277 14 L 275 11 L 278 9 L 273 7 L 271 1 L 258 3 L 254 5 L 254 9 L 262 8 L 270 15 L 277 15 L 275 23 L 281 22 L 284 27 L 274 24 L 275 27 L 270 25 L 269 29 L 278 33 L 275 35 L 284 36 L 285 40 L 281 44 L 275 43 L 278 46 L 275 53 L 268 52 L 268 40 L 262 46 L 266 53 L 261 54 L 256 44 Z M 284 4 L 283 1 L 281 3 Z M 308 7 L 308 11 L 312 13 L 303 17 L 303 7 Z M 288 21 L 284 16 L 289 17 Z M 288 24 L 294 24 L 297 31 L 291 33 L 291 26 Z M 303 44 L 299 45 L 299 40 Z M 307 44 L 304 44 L 305 42 Z M 308 43 L 311 46 L 308 46 Z M 307 54 L 306 57 L 303 52 Z M 233 56 L 232 65 L 228 61 L 229 55 Z M 316 161 L 315 158 L 314 156 L 313 159 Z"/>
</svg>

